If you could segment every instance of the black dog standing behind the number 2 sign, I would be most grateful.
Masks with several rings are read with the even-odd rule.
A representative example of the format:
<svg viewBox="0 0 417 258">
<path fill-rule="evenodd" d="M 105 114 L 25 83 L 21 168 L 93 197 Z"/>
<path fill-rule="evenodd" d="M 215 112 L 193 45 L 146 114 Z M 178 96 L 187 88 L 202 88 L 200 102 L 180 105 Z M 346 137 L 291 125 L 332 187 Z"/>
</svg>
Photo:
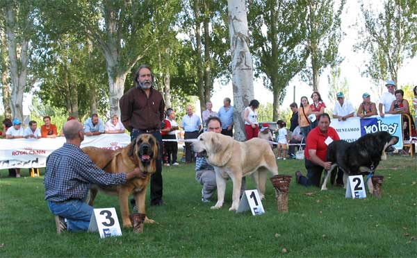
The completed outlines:
<svg viewBox="0 0 417 258">
<path fill-rule="evenodd" d="M 343 171 L 343 184 L 346 188 L 348 175 L 362 175 L 375 171 L 381 160 L 386 160 L 386 153 L 395 150 L 398 137 L 389 132 L 375 132 L 357 139 L 352 143 L 333 141 L 327 147 L 327 161 L 332 162 L 332 168 L 326 171 L 322 190 L 327 190 L 327 179 L 336 166 Z M 373 185 L 368 180 L 368 190 L 372 193 Z"/>
</svg>

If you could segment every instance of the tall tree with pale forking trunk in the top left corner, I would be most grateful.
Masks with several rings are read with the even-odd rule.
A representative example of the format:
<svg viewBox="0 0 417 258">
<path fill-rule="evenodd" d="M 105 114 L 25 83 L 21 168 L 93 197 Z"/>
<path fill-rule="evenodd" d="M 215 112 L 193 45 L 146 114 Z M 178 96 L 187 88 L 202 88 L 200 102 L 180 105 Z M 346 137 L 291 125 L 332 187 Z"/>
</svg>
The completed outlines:
<svg viewBox="0 0 417 258">
<path fill-rule="evenodd" d="M 6 24 L 8 61 L 12 92 L 10 109 L 13 117 L 23 119 L 23 94 L 28 76 L 33 35 L 33 5 L 31 1 L 3 1 L 0 6 Z"/>
</svg>

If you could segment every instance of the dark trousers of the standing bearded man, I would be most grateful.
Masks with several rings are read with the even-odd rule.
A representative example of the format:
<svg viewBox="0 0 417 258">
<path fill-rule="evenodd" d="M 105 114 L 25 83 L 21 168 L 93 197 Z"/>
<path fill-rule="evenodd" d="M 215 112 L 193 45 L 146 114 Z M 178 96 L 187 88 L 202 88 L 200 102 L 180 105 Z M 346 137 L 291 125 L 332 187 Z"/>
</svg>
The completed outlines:
<svg viewBox="0 0 417 258">
<path fill-rule="evenodd" d="M 133 130 L 131 140 L 133 141 L 139 135 L 147 133 L 145 131 Z M 152 132 L 156 141 L 158 141 L 158 158 L 156 159 L 156 172 L 151 176 L 151 205 L 158 204 L 162 200 L 163 181 L 162 181 L 162 137 L 161 132 Z"/>
</svg>

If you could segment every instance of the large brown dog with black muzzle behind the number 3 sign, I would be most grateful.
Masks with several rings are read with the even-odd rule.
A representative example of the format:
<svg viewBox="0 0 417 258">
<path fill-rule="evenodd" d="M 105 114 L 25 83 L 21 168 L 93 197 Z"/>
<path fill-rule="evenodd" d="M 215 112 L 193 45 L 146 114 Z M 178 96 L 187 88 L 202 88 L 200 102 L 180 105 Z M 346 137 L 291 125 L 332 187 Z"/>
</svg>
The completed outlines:
<svg viewBox="0 0 417 258">
<path fill-rule="evenodd" d="M 100 189 L 108 194 L 119 196 L 120 212 L 122 213 L 123 227 L 131 227 L 129 219 L 128 198 L 135 196 L 138 212 L 145 214 L 146 188 L 152 173 L 156 171 L 156 158 L 158 157 L 158 145 L 154 136 L 143 134 L 138 136 L 128 146 L 121 150 L 108 150 L 96 147 L 85 147 L 83 152 L 92 162 L 107 173 L 122 173 L 132 171 L 139 167 L 144 174 L 142 178 L 133 178 L 113 187 L 104 187 L 92 184 L 90 187 L 89 205 L 93 205 L 97 191 Z M 154 223 L 152 219 L 145 218 L 145 223 Z"/>
</svg>

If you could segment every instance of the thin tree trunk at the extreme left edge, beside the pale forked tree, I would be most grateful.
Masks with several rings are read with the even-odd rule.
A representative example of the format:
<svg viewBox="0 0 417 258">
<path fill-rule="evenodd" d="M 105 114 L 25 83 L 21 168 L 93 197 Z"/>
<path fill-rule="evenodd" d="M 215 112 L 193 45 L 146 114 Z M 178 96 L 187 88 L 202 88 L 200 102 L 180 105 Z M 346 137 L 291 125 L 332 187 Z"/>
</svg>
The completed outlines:
<svg viewBox="0 0 417 258">
<path fill-rule="evenodd" d="M 8 69 L 8 49 L 4 21 L 0 19 L 0 74 L 1 74 L 1 96 L 3 99 L 4 117 L 12 117 L 10 109 L 10 74 Z"/>
</svg>

